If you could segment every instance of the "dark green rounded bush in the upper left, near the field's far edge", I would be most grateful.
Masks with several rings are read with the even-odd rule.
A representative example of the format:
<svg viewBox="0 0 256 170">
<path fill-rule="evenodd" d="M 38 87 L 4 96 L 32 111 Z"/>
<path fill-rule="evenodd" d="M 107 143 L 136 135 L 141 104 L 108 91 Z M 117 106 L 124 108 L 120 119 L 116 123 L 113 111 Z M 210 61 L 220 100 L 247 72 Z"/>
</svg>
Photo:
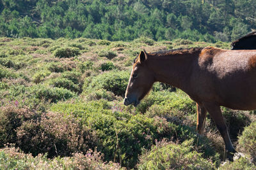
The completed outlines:
<svg viewBox="0 0 256 170">
<path fill-rule="evenodd" d="M 61 47 L 54 50 L 53 55 L 59 58 L 70 58 L 80 54 L 79 48 L 76 47 Z"/>
</svg>

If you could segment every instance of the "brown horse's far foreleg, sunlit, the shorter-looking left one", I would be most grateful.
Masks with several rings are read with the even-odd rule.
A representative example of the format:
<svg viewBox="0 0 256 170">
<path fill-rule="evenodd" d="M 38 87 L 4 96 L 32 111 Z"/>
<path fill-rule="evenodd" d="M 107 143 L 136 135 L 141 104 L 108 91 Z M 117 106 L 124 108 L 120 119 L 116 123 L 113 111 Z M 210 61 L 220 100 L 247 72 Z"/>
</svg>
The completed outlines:
<svg viewBox="0 0 256 170">
<path fill-rule="evenodd" d="M 197 112 L 197 122 L 196 122 L 196 131 L 199 134 L 204 132 L 204 125 L 205 125 L 205 118 L 207 111 L 205 110 L 204 106 L 200 106 L 196 103 L 196 112 Z"/>
</svg>

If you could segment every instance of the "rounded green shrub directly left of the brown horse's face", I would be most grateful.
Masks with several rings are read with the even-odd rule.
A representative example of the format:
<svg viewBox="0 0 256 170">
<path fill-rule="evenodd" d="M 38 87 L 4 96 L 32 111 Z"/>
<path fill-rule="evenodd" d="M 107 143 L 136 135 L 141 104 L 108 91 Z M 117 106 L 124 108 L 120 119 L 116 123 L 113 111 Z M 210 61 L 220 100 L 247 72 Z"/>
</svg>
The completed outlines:
<svg viewBox="0 0 256 170">
<path fill-rule="evenodd" d="M 124 96 L 128 80 L 127 71 L 109 71 L 93 77 L 88 86 L 85 84 L 83 88 L 86 92 L 105 89 L 117 96 Z"/>
</svg>

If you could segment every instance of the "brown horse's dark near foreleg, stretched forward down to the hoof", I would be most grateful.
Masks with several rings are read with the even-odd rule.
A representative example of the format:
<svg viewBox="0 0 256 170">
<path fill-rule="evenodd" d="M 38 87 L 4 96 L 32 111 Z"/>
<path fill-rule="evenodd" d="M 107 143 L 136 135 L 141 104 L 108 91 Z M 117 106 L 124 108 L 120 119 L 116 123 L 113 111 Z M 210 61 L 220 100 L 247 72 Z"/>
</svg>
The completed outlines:
<svg viewBox="0 0 256 170">
<path fill-rule="evenodd" d="M 228 159 L 232 160 L 232 157 L 236 150 L 234 149 L 229 135 L 227 131 L 227 125 L 225 124 L 225 121 L 223 119 L 220 106 L 212 103 L 204 104 L 205 109 L 209 112 L 211 118 L 214 120 L 215 124 L 217 125 L 218 130 L 220 131 L 220 134 L 225 142 L 225 149 L 228 152 Z"/>
</svg>

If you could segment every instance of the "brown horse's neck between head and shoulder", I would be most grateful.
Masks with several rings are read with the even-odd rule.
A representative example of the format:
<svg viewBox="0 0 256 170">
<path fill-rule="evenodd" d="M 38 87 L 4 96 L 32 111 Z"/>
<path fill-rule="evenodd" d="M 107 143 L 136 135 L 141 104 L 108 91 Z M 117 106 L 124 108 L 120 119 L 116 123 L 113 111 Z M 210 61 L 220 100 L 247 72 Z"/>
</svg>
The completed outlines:
<svg viewBox="0 0 256 170">
<path fill-rule="evenodd" d="M 151 56 L 148 66 L 154 72 L 156 81 L 186 90 L 195 59 L 191 54 Z"/>
</svg>

